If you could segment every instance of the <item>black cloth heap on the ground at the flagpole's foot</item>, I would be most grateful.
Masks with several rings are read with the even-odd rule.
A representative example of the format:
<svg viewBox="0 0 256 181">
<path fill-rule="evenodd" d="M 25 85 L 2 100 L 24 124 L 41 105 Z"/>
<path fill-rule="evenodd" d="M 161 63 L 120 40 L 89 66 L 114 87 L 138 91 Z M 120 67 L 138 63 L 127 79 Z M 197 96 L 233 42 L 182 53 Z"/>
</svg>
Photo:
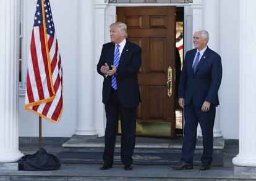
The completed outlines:
<svg viewBox="0 0 256 181">
<path fill-rule="evenodd" d="M 61 161 L 45 151 L 44 148 L 33 155 L 22 156 L 19 160 L 20 171 L 51 171 L 61 167 Z"/>
</svg>

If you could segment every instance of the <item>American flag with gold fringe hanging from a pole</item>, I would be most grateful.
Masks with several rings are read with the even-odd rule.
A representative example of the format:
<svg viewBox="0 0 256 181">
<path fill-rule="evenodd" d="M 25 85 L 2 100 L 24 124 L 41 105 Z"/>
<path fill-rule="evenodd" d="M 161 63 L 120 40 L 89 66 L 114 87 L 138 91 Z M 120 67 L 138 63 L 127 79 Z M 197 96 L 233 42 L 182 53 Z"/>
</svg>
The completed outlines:
<svg viewBox="0 0 256 181">
<path fill-rule="evenodd" d="M 62 113 L 62 66 L 49 0 L 38 0 L 30 44 L 25 109 L 53 123 Z"/>
</svg>

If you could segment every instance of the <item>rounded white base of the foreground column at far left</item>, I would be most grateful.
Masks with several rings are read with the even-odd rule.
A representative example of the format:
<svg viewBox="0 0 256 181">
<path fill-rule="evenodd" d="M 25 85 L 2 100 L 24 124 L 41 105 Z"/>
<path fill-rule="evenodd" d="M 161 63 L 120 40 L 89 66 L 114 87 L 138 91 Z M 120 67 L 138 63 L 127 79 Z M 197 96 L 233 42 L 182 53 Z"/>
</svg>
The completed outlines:
<svg viewBox="0 0 256 181">
<path fill-rule="evenodd" d="M 19 150 L 0 150 L 0 163 L 13 163 L 19 161 L 24 156 Z"/>
</svg>

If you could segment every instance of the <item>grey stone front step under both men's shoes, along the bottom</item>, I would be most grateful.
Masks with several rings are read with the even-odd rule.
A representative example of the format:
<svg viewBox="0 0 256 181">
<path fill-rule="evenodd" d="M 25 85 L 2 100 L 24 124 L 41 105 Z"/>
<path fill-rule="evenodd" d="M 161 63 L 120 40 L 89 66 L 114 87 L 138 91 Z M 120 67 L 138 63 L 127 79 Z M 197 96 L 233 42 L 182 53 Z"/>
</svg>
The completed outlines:
<svg viewBox="0 0 256 181">
<path fill-rule="evenodd" d="M 100 171 L 99 164 L 62 164 L 57 171 L 0 171 L 0 180 L 11 181 L 96 181 L 96 180 L 255 180 L 255 174 L 235 174 L 231 167 L 211 167 L 208 171 L 175 171 L 169 166 L 134 166 L 125 171 L 122 165 Z"/>
</svg>

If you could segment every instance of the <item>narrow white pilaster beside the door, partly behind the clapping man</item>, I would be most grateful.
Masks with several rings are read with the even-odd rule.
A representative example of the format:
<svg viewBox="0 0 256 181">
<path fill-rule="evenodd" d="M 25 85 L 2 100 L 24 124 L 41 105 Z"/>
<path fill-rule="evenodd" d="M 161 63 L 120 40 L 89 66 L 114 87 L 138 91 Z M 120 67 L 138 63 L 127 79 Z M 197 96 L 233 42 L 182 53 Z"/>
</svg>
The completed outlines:
<svg viewBox="0 0 256 181">
<path fill-rule="evenodd" d="M 101 49 L 105 43 L 105 10 L 107 3 L 104 0 L 95 0 L 95 62 L 93 71 L 95 72 L 95 123 L 98 136 L 105 135 L 106 118 L 105 107 L 102 103 L 103 77 L 96 71 L 96 65 L 100 58 Z"/>
</svg>

